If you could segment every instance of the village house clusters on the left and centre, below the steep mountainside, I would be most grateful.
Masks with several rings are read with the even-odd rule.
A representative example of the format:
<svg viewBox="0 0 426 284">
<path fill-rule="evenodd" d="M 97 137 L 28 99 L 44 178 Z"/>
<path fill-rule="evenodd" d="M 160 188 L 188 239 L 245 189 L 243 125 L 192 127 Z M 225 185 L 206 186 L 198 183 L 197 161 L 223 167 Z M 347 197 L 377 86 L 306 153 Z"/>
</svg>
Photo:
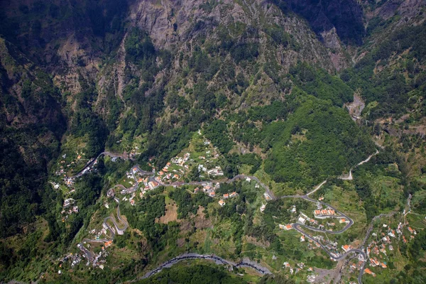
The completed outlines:
<svg viewBox="0 0 426 284">
<path fill-rule="evenodd" d="M 198 140 L 198 141 L 197 141 Z M 217 200 L 217 204 L 223 207 L 226 206 L 227 200 L 237 197 L 237 192 L 224 193 L 217 195 L 217 190 L 220 187 L 219 181 L 214 181 L 214 178 L 222 178 L 224 173 L 222 168 L 217 165 L 217 159 L 219 154 L 217 149 L 212 147 L 210 141 L 201 136 L 198 133 L 198 137 L 195 141 L 191 141 L 194 145 L 185 151 L 182 151 L 181 155 L 178 155 L 172 159 L 159 171 L 156 171 L 153 166 L 153 160 L 155 157 L 149 160 L 149 164 L 152 167 L 152 172 L 141 170 L 138 165 L 134 165 L 130 170 L 124 173 L 124 176 L 119 180 L 119 184 L 111 187 L 107 190 L 107 198 L 115 201 L 116 204 L 125 204 L 129 202 L 131 206 L 137 204 L 138 200 L 141 200 L 146 192 L 155 190 L 160 185 L 178 187 L 180 185 L 190 184 L 194 185 L 194 194 L 203 192 L 205 195 Z M 200 145 L 201 144 L 201 145 Z M 200 148 L 203 148 L 200 150 Z M 195 152 L 197 148 L 198 152 Z M 117 157 L 111 157 L 111 162 L 116 162 Z M 69 177 L 65 174 L 65 171 L 59 171 L 57 175 L 62 176 L 62 182 L 51 182 L 55 189 L 60 189 L 64 186 L 67 188 L 66 196 L 62 204 L 62 222 L 65 222 L 71 214 L 77 214 L 79 207 L 77 207 L 77 200 L 72 198 L 72 194 L 75 192 L 74 182 L 77 178 L 81 178 L 87 173 L 94 173 L 97 171 L 97 158 L 89 160 L 85 168 L 83 168 L 77 175 Z M 185 182 L 180 180 L 187 180 L 187 174 L 190 169 L 196 168 L 200 173 L 200 179 L 204 181 L 200 182 Z M 244 178 L 246 182 L 252 182 L 251 178 Z M 258 189 L 260 186 L 255 181 L 254 187 Z M 268 193 L 263 195 L 266 201 L 271 200 L 271 196 Z M 106 209 L 112 209 L 111 202 L 104 202 L 103 206 Z M 115 206 L 115 205 L 114 205 Z M 261 211 L 266 207 L 266 204 L 262 204 Z M 89 239 L 83 239 L 82 243 L 77 244 L 77 248 L 80 250 L 78 253 L 70 253 L 67 256 L 60 258 L 60 268 L 62 263 L 70 263 L 71 268 L 77 266 L 78 263 L 83 260 L 86 261 L 86 266 L 92 266 L 94 268 L 104 269 L 106 266 L 106 258 L 108 256 L 107 248 L 113 244 L 114 234 L 122 234 L 124 230 L 120 230 L 116 224 L 107 223 L 107 217 L 102 223 L 102 228 L 92 229 L 88 232 Z M 115 221 L 114 221 L 115 223 Z M 58 273 L 61 273 L 59 270 Z"/>
</svg>

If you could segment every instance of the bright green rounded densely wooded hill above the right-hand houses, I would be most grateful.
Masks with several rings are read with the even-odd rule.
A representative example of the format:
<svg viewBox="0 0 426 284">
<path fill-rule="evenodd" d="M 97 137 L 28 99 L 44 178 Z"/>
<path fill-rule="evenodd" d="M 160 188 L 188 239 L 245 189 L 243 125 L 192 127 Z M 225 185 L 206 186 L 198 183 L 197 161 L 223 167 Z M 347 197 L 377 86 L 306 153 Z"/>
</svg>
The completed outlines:
<svg viewBox="0 0 426 284">
<path fill-rule="evenodd" d="M 284 122 L 268 126 L 276 136 L 265 163 L 275 182 L 313 187 L 365 160 L 373 143 L 344 109 L 307 97 Z"/>
</svg>

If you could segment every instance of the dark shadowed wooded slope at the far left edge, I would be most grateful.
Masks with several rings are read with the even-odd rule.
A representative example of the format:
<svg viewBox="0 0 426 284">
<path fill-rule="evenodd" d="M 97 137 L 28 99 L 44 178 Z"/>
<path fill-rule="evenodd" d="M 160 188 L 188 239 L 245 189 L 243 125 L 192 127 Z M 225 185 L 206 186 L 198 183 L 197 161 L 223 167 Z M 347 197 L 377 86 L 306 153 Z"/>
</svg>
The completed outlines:
<svg viewBox="0 0 426 284">
<path fill-rule="evenodd" d="M 48 164 L 66 129 L 61 94 L 50 76 L 0 38 L 0 236 L 45 212 Z"/>
</svg>

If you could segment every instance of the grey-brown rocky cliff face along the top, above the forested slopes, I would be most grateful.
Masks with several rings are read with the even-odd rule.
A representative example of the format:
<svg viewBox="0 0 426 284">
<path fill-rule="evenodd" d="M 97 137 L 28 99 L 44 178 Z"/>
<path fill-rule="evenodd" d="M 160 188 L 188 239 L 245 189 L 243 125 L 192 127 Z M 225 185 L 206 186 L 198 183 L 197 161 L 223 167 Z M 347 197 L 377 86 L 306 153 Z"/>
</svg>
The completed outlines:
<svg viewBox="0 0 426 284">
<path fill-rule="evenodd" d="M 425 0 L 3 1 L 0 33 L 28 62 L 52 75 L 70 110 L 76 110 L 77 94 L 85 92 L 84 86 L 94 86 L 90 105 L 102 119 L 109 117 L 114 130 L 126 113 L 134 111 L 129 92 L 135 89 L 143 97 L 163 92 L 168 111 L 171 93 L 190 104 L 197 102 L 188 92 L 200 78 L 234 106 L 281 99 L 291 92 L 293 82 L 285 74 L 297 62 L 328 72 L 344 70 L 352 64 L 349 54 L 355 54 L 356 44 L 362 42 L 364 22 L 370 27 L 374 18 L 386 21 L 398 13 L 395 28 L 418 24 L 424 18 L 422 6 Z M 129 60 L 126 40 L 134 29 L 146 33 L 157 50 L 148 75 L 146 65 Z M 354 61 L 366 53 L 354 56 Z M 194 65 L 200 66 L 190 72 Z M 209 70 L 202 71 L 202 65 L 209 65 Z M 6 74 L 2 72 L 4 92 L 13 89 L 21 97 L 23 81 L 6 87 L 11 84 Z M 247 80 L 244 87 L 233 87 L 237 74 Z M 4 115 L 7 121 L 16 119 Z"/>
</svg>

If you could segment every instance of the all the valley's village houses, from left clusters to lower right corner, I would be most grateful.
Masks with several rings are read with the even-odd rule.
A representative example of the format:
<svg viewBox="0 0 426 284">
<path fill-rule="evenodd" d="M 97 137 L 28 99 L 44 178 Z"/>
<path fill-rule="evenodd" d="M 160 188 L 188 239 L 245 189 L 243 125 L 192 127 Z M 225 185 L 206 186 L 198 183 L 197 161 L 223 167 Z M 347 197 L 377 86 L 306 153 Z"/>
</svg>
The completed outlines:
<svg viewBox="0 0 426 284">
<path fill-rule="evenodd" d="M 78 160 L 82 160 L 82 155 L 77 155 Z M 99 157 L 98 157 L 99 158 Z M 116 162 L 118 157 L 112 156 L 111 162 Z M 180 154 L 171 158 L 160 170 L 156 170 L 154 166 L 155 157 L 150 158 L 148 165 L 151 166 L 152 172 L 141 170 L 138 165 L 134 165 L 130 170 L 127 170 L 124 176 L 119 180 L 119 184 L 111 187 L 107 191 L 107 198 L 115 201 L 116 204 L 126 204 L 129 202 L 134 206 L 141 200 L 146 192 L 155 190 L 159 186 L 179 187 L 182 185 L 191 185 L 192 194 L 203 192 L 208 197 L 217 201 L 220 207 L 226 206 L 229 200 L 237 197 L 239 194 L 235 191 L 217 194 L 220 189 L 221 182 L 224 182 L 224 173 L 218 164 L 219 153 L 217 148 L 214 148 L 210 141 L 204 138 L 199 132 L 190 142 L 190 147 L 184 149 Z M 62 163 L 62 162 L 61 162 Z M 70 163 L 71 165 L 74 165 Z M 67 168 L 70 168 L 67 166 Z M 62 177 L 60 182 L 50 182 L 57 190 L 65 185 L 67 188 L 65 196 L 67 197 L 62 204 L 62 222 L 65 222 L 70 215 L 78 214 L 80 211 L 77 206 L 77 201 L 72 198 L 72 193 L 75 192 L 74 182 L 77 178 L 82 177 L 87 173 L 97 171 L 97 158 L 87 160 L 84 168 L 75 176 L 68 176 L 63 165 L 56 173 L 58 177 Z M 192 180 L 192 173 L 197 173 L 197 181 Z M 219 180 L 217 180 L 219 178 Z M 253 180 L 253 177 L 241 175 L 239 179 L 244 179 L 246 182 L 252 183 L 256 189 L 259 189 L 260 182 Z M 233 179 L 234 180 L 234 179 Z M 264 187 L 264 185 L 262 185 Z M 306 243 L 307 249 L 326 251 L 332 261 L 337 261 L 344 257 L 350 251 L 356 251 L 357 248 L 353 244 L 342 244 L 342 241 L 337 241 L 327 236 L 327 232 L 335 232 L 337 234 L 345 231 L 353 224 L 353 221 L 346 217 L 341 212 L 322 202 L 324 197 L 320 196 L 317 200 L 311 200 L 306 196 L 302 197 L 307 200 L 307 207 L 303 209 L 297 208 L 295 204 L 288 208 L 290 212 L 289 224 L 278 224 L 278 229 L 283 231 L 295 230 L 300 233 L 300 242 Z M 263 193 L 263 198 L 266 202 L 260 205 L 260 212 L 266 210 L 269 201 L 273 197 L 268 191 Z M 104 202 L 103 206 L 110 209 L 111 202 Z M 112 210 L 112 207 L 111 207 Z M 77 266 L 80 262 L 85 261 L 86 266 L 104 269 L 107 265 L 107 256 L 109 255 L 107 248 L 113 244 L 115 234 L 123 234 L 124 229 L 119 229 L 114 222 L 107 223 L 107 217 L 102 223 L 102 228 L 92 229 L 89 231 L 89 239 L 83 239 L 82 243 L 77 244 L 80 252 L 70 253 L 59 260 L 60 268 L 62 263 L 70 263 L 71 268 Z M 120 218 L 120 217 L 119 217 Z M 300 226 L 305 226 L 309 231 L 302 231 Z M 380 270 L 388 268 L 389 255 L 394 250 L 394 246 L 398 246 L 398 241 L 407 243 L 410 239 L 414 239 L 416 231 L 410 226 L 405 226 L 399 223 L 393 228 L 391 225 L 383 224 L 380 231 L 373 231 L 371 241 L 363 249 L 363 253 L 358 253 L 355 258 L 352 258 L 348 267 L 349 273 L 364 273 L 376 277 Z M 366 257 L 365 257 L 366 256 Z M 297 274 L 306 268 L 305 263 L 295 263 L 292 266 L 288 261 L 283 263 L 283 269 L 288 269 L 290 275 Z M 307 282 L 313 283 L 316 281 L 314 268 L 306 268 L 307 272 L 312 272 L 307 275 Z M 61 273 L 61 270 L 58 271 Z"/>
</svg>

